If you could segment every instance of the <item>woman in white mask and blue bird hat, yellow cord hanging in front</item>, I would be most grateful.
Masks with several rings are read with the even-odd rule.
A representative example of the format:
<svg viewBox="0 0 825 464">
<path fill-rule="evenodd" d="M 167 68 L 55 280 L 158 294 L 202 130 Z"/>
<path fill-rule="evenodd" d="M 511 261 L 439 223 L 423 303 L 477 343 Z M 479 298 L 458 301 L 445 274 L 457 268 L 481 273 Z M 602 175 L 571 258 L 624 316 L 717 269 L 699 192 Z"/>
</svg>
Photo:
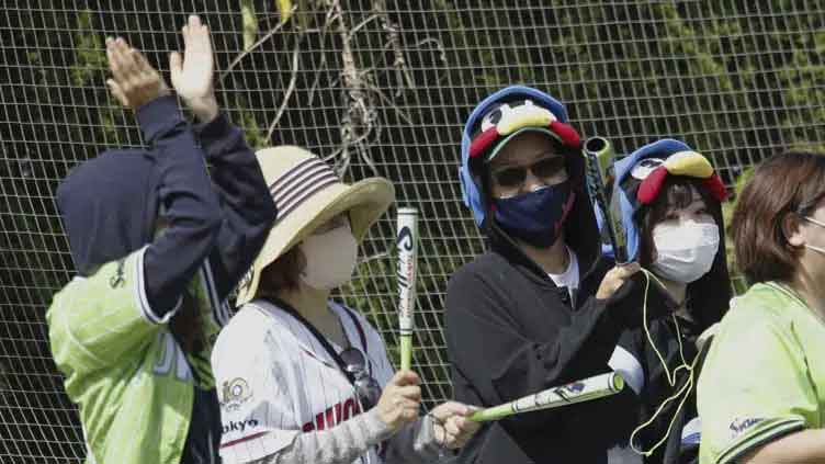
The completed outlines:
<svg viewBox="0 0 825 464">
<path fill-rule="evenodd" d="M 700 421 L 696 381 L 700 336 L 727 310 L 731 278 L 724 247 L 726 190 L 710 161 L 674 139 L 648 144 L 615 163 L 628 256 L 646 270 L 618 306 L 642 307 L 610 359 L 630 387 L 621 415 L 632 449 L 647 463 L 696 463 Z M 615 213 L 614 213 L 615 214 Z M 597 207 L 599 224 L 603 224 Z M 612 258 L 612 248 L 602 246 Z M 708 332 L 710 333 L 710 331 Z M 705 351 L 707 352 L 707 351 Z"/>
</svg>

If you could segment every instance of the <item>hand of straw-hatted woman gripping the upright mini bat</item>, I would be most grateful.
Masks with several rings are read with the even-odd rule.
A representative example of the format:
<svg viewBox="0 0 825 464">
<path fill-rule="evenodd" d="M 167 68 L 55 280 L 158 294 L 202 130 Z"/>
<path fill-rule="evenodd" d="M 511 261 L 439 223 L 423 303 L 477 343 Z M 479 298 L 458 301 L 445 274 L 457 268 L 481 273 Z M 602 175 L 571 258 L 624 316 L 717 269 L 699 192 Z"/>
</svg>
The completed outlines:
<svg viewBox="0 0 825 464">
<path fill-rule="evenodd" d="M 412 371 L 398 371 L 381 393 L 378 417 L 393 431 L 418 419 L 421 404 L 421 380 Z"/>
</svg>

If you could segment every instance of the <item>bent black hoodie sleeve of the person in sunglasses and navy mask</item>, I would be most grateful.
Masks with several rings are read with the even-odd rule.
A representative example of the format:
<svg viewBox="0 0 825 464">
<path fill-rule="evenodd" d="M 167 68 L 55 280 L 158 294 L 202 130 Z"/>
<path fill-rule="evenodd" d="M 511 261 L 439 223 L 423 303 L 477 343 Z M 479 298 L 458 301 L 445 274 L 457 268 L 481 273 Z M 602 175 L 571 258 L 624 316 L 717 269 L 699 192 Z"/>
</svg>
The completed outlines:
<svg viewBox="0 0 825 464">
<path fill-rule="evenodd" d="M 550 340 L 525 338 L 508 312 L 509 295 L 478 273 L 460 270 L 447 294 L 447 342 L 451 362 L 482 406 L 495 406 L 551 386 L 607 372 L 621 327 L 608 302 L 590 298 L 569 326 Z M 459 398 L 462 400 L 463 398 Z M 545 410 L 505 419 L 508 429 L 561 423 L 566 412 Z"/>
</svg>

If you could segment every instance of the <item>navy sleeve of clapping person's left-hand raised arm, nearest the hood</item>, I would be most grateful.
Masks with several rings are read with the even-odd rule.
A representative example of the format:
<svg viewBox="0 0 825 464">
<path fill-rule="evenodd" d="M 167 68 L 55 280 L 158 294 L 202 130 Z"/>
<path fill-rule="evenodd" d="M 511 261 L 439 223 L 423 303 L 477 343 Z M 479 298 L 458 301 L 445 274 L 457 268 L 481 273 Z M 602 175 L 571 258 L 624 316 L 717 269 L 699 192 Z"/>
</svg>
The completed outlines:
<svg viewBox="0 0 825 464">
<path fill-rule="evenodd" d="M 187 284 L 212 250 L 221 215 L 202 151 L 174 97 L 143 105 L 137 121 L 156 159 L 158 194 L 169 223 L 144 256 L 149 306 L 163 318 L 177 307 Z"/>
</svg>

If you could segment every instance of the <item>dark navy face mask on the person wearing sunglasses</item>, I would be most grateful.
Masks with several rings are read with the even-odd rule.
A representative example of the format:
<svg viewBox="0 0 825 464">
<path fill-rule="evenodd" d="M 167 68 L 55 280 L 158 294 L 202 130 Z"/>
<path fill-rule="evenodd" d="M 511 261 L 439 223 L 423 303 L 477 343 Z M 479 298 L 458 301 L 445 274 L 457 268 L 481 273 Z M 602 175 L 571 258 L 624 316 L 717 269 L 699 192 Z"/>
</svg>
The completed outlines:
<svg viewBox="0 0 825 464">
<path fill-rule="evenodd" d="M 576 193 L 569 181 L 493 201 L 496 223 L 511 237 L 534 247 L 549 248 L 564 227 Z"/>
</svg>

